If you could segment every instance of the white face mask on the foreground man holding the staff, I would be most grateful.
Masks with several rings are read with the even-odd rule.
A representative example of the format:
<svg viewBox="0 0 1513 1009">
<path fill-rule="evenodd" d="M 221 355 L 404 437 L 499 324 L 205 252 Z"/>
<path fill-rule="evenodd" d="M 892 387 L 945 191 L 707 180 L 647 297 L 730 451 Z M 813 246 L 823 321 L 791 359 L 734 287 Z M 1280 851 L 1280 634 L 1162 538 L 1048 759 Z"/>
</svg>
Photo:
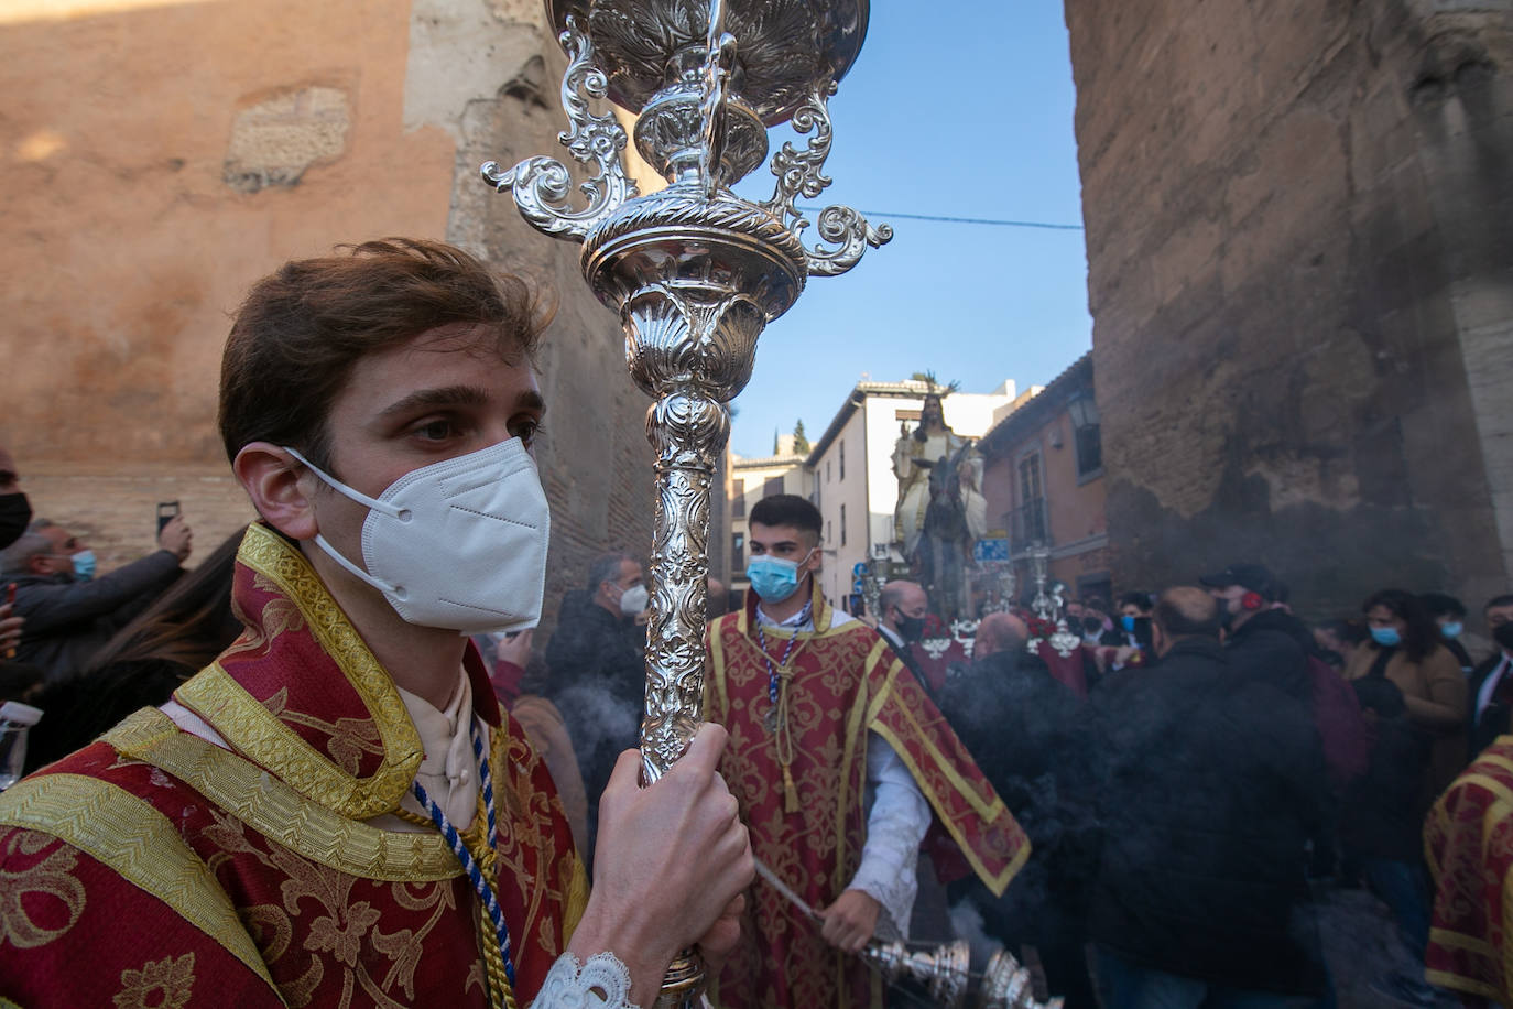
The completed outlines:
<svg viewBox="0 0 1513 1009">
<path fill-rule="evenodd" d="M 315 543 L 383 593 L 405 623 L 461 634 L 523 631 L 542 619 L 551 514 L 536 460 L 520 439 L 431 463 L 377 499 L 325 473 L 337 493 L 368 507 L 363 570 L 324 536 Z"/>
</svg>

